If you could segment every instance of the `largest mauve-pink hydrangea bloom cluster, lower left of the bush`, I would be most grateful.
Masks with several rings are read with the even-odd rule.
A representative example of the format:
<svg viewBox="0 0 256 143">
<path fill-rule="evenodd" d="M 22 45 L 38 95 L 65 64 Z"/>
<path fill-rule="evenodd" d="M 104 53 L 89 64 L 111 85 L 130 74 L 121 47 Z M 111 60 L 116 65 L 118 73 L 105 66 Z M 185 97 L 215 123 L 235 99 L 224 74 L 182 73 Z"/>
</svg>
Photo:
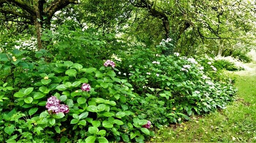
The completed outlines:
<svg viewBox="0 0 256 143">
<path fill-rule="evenodd" d="M 60 100 L 58 100 L 55 96 L 51 96 L 47 99 L 45 107 L 48 109 L 48 112 L 52 111 L 53 114 L 59 114 L 60 112 L 69 112 L 68 106 L 60 104 Z"/>
</svg>

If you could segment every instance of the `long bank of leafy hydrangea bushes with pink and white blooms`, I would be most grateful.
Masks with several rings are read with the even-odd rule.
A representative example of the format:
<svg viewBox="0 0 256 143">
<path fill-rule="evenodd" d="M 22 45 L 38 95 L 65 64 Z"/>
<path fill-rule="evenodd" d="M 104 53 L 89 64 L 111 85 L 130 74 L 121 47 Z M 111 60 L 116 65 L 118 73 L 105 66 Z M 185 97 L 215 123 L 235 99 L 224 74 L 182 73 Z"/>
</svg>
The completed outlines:
<svg viewBox="0 0 256 143">
<path fill-rule="evenodd" d="M 0 54 L 0 142 L 145 142 L 152 128 L 225 108 L 236 92 L 211 65 L 178 55 L 138 51 L 99 69 L 25 55 Z"/>
</svg>

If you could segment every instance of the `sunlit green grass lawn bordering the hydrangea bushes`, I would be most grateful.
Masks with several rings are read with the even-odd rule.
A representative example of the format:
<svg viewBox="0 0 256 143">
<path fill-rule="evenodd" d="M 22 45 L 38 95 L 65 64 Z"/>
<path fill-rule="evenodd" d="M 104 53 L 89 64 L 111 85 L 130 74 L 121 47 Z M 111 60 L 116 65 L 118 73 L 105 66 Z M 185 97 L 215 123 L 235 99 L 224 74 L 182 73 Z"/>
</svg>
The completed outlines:
<svg viewBox="0 0 256 143">
<path fill-rule="evenodd" d="M 256 142 L 256 76 L 238 76 L 237 100 L 225 110 L 158 130 L 151 142 Z"/>
</svg>

